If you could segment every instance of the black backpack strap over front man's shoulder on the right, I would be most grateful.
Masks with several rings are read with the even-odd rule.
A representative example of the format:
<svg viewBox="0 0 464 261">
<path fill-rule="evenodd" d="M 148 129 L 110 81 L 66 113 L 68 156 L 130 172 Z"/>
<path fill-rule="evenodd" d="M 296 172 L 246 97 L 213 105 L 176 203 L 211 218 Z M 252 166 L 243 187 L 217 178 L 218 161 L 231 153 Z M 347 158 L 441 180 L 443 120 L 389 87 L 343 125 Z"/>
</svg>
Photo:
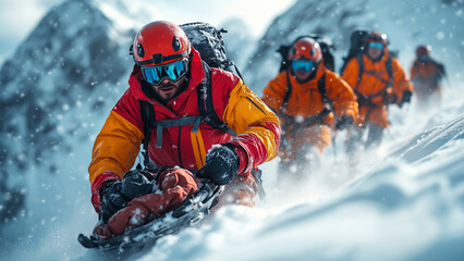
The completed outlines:
<svg viewBox="0 0 464 261">
<path fill-rule="evenodd" d="M 213 128 L 221 129 L 232 136 L 236 136 L 236 133 L 223 123 L 216 113 L 212 103 L 211 69 L 205 62 L 203 63 L 203 69 L 205 71 L 205 78 L 200 86 L 196 88 L 198 111 L 202 116 L 202 121 L 208 123 Z"/>
</svg>

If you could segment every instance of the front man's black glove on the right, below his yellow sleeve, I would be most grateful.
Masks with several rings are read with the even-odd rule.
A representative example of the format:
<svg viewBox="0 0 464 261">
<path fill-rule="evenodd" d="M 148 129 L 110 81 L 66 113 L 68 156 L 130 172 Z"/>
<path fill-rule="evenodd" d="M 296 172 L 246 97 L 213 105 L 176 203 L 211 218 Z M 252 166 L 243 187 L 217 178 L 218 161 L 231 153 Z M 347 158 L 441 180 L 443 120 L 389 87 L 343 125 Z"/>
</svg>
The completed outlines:
<svg viewBox="0 0 464 261">
<path fill-rule="evenodd" d="M 239 174 L 240 160 L 231 145 L 212 147 L 206 156 L 205 165 L 196 173 L 218 185 L 225 185 Z"/>
</svg>

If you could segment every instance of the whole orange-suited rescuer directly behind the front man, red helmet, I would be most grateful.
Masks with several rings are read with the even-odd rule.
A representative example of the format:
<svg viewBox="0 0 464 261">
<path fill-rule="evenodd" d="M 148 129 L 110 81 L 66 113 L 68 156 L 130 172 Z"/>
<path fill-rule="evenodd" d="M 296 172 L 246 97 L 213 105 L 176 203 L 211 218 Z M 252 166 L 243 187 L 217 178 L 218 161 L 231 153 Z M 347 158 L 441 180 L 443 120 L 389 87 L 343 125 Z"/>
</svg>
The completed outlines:
<svg viewBox="0 0 464 261">
<path fill-rule="evenodd" d="M 326 69 L 320 46 L 313 38 L 298 38 L 289 60 L 290 66 L 265 88 L 262 100 L 281 122 L 280 173 L 290 171 L 298 178 L 304 177 L 309 161 L 307 150 L 315 149 L 317 160 L 332 142 L 332 129 L 352 125 L 357 102 L 350 86 Z"/>
</svg>

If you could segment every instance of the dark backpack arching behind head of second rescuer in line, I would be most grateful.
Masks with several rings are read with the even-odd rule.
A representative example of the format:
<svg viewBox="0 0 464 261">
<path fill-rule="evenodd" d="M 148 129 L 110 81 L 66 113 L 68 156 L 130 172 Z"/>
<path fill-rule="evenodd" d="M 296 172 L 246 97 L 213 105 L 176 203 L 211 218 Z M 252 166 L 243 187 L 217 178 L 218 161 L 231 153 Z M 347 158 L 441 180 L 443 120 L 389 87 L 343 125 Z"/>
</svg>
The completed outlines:
<svg viewBox="0 0 464 261">
<path fill-rule="evenodd" d="M 277 52 L 279 52 L 281 58 L 282 58 L 279 72 L 285 71 L 289 67 L 289 65 L 290 65 L 290 63 L 289 63 L 289 50 L 290 50 L 290 48 L 292 48 L 292 46 L 295 41 L 297 41 L 297 40 L 300 40 L 304 37 L 310 37 L 319 44 L 320 50 L 322 51 L 323 64 L 326 65 L 326 67 L 328 70 L 334 72 L 335 60 L 333 59 L 333 54 L 332 54 L 331 50 L 334 51 L 335 46 L 332 44 L 332 41 L 329 38 L 321 37 L 321 36 L 315 35 L 315 34 L 300 36 L 292 44 L 282 45 L 282 46 L 279 47 L 279 49 L 277 49 Z"/>
</svg>

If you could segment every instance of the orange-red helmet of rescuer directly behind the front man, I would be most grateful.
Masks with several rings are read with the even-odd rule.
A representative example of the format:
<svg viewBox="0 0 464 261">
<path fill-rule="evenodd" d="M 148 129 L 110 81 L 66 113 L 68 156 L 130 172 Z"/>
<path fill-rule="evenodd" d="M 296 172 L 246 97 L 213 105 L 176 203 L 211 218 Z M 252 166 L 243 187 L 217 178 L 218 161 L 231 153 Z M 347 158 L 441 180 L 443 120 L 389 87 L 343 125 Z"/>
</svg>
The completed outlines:
<svg viewBox="0 0 464 261">
<path fill-rule="evenodd" d="M 320 46 L 310 37 L 297 39 L 289 51 L 289 60 L 309 60 L 318 63 L 321 59 Z"/>
</svg>

